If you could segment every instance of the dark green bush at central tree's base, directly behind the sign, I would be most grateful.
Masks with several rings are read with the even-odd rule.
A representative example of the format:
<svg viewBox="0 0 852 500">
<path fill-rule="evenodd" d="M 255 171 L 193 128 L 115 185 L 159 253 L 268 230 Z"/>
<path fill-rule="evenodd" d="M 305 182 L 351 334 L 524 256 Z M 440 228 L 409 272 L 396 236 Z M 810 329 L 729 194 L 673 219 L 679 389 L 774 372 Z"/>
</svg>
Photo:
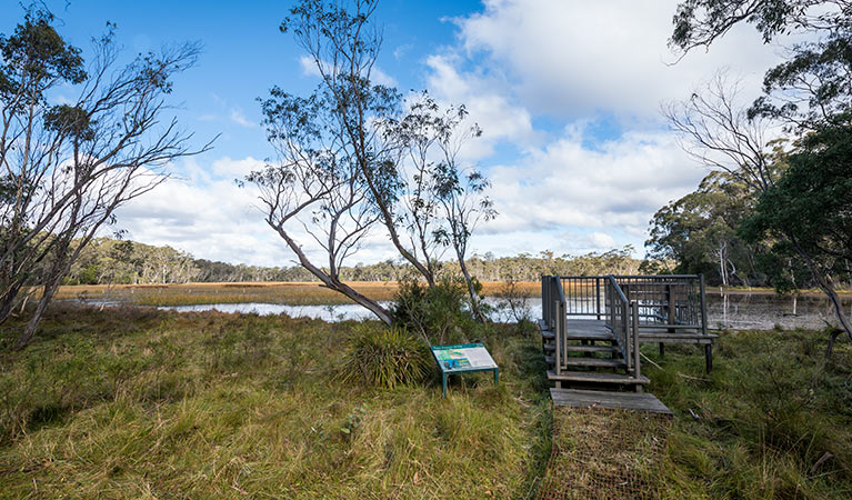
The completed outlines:
<svg viewBox="0 0 852 500">
<path fill-rule="evenodd" d="M 463 279 L 445 276 L 434 287 L 409 279 L 400 282 L 391 309 L 394 324 L 417 332 L 430 344 L 460 343 L 482 332 Z"/>
</svg>

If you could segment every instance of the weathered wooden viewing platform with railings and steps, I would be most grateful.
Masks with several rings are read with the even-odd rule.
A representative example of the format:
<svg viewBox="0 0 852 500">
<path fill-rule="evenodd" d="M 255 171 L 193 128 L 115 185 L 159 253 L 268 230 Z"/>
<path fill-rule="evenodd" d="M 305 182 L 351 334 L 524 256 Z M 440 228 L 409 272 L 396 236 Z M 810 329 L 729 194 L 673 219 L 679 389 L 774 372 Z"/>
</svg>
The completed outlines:
<svg viewBox="0 0 852 500">
<path fill-rule="evenodd" d="M 713 367 L 703 276 L 545 276 L 539 328 L 557 406 L 670 414 L 643 393 L 642 342 L 703 346 Z"/>
</svg>

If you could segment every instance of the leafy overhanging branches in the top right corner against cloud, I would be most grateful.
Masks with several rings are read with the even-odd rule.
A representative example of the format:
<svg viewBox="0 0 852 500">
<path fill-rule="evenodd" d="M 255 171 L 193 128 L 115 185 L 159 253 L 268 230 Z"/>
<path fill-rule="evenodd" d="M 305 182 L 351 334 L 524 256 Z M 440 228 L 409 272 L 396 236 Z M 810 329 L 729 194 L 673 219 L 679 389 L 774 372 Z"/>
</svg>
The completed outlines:
<svg viewBox="0 0 852 500">
<path fill-rule="evenodd" d="M 849 2 L 838 0 L 684 0 L 673 17 L 671 46 L 709 47 L 738 23 L 754 24 L 770 42 L 806 33 L 788 48 L 788 60 L 766 71 L 763 96 L 750 117 L 770 117 L 812 130 L 852 111 L 852 32 Z"/>
</svg>

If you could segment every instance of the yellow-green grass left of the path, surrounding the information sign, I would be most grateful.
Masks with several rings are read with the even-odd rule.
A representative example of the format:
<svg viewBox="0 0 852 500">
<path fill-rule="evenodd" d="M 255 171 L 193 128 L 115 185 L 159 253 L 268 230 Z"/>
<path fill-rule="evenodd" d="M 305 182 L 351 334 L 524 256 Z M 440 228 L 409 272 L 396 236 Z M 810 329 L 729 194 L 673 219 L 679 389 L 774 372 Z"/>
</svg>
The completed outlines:
<svg viewBox="0 0 852 500">
<path fill-rule="evenodd" d="M 549 453 L 534 340 L 488 376 L 335 381 L 353 322 L 54 308 L 0 357 L 3 498 L 522 498 Z M 7 343 L 8 346 L 8 343 Z"/>
</svg>

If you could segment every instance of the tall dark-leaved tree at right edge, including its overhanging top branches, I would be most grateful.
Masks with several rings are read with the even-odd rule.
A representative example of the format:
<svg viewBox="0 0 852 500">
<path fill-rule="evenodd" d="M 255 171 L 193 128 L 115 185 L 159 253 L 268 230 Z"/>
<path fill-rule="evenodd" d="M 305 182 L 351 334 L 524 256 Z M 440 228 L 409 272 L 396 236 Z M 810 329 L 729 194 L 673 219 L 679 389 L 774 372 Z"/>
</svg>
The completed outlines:
<svg viewBox="0 0 852 500">
<path fill-rule="evenodd" d="M 685 104 L 682 108 L 685 112 L 670 113 L 670 121 L 690 139 L 689 150 L 699 151 L 703 158 L 728 157 L 721 163 L 713 160 L 705 163 L 732 173 L 742 172 L 742 178 L 750 182 L 759 198 L 755 226 L 761 231 L 751 234 L 771 233 L 783 240 L 784 244 L 774 248 L 794 254 L 806 266 L 813 281 L 833 304 L 840 328 L 852 340 L 852 322 L 841 307 L 832 280 L 834 267 L 829 263 L 840 257 L 838 244 L 848 244 L 843 230 L 820 228 L 814 231 L 815 228 L 805 223 L 805 219 L 816 214 L 812 208 L 820 206 L 810 194 L 836 194 L 831 186 L 845 186 L 852 179 L 852 171 L 836 163 L 836 152 L 845 151 L 843 144 L 833 142 L 848 140 L 848 130 L 852 126 L 852 2 L 685 0 L 679 3 L 673 17 L 670 43 L 683 54 L 699 47 L 709 48 L 742 22 L 754 24 L 764 42 L 791 32 L 806 33 L 810 38 L 788 47 L 786 60 L 766 71 L 763 94 L 748 111 L 731 106 L 726 99 L 715 99 L 704 106 L 699 97 L 699 106 Z M 692 102 L 695 102 L 695 96 Z M 720 119 L 713 120 L 716 117 Z M 728 117 L 736 117 L 736 120 L 728 120 Z M 710 126 L 695 127 L 695 118 L 699 123 L 709 119 L 705 122 Z M 792 136 L 790 138 L 795 139 L 793 147 L 772 151 L 770 141 L 742 140 L 741 131 L 760 120 L 783 127 Z M 714 141 L 714 138 L 723 140 Z M 808 167 L 784 172 L 788 164 Z M 810 176 L 811 179 L 828 180 L 828 184 L 815 186 L 815 191 L 810 193 L 800 192 L 802 198 L 796 200 L 790 196 L 796 188 L 788 180 L 788 174 L 799 180 Z M 790 204 L 779 204 L 778 200 L 782 199 Z M 844 216 L 848 204 L 829 203 L 823 209 L 832 211 L 820 213 L 818 220 L 848 223 Z M 772 213 L 773 210 L 781 211 Z M 815 236 L 819 236 L 816 240 Z"/>
</svg>

